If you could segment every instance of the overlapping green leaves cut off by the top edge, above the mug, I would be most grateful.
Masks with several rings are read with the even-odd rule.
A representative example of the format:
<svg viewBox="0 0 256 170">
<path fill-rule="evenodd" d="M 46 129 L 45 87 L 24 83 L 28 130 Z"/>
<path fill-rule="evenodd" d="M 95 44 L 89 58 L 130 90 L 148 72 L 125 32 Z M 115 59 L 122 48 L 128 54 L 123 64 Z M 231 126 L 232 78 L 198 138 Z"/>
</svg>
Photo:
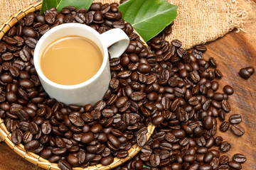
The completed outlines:
<svg viewBox="0 0 256 170">
<path fill-rule="evenodd" d="M 75 8 L 86 8 L 89 9 L 92 5 L 93 0 L 43 0 L 40 14 L 42 15 L 46 9 L 57 8 L 60 12 L 65 6 L 75 6 Z"/>
</svg>

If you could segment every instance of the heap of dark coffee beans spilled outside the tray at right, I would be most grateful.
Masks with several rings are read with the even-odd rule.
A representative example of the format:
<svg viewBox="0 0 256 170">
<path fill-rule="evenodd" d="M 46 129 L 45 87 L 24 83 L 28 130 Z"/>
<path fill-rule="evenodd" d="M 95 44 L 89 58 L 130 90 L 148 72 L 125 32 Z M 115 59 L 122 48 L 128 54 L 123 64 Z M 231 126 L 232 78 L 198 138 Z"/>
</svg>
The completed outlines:
<svg viewBox="0 0 256 170">
<path fill-rule="evenodd" d="M 242 169 L 241 164 L 246 161 L 245 155 L 235 154 L 230 159 L 223 154 L 231 149 L 230 143 L 224 141 L 223 137 L 215 137 L 218 130 L 216 118 L 223 121 L 220 125 L 223 132 L 230 128 L 230 124 L 235 135 L 240 136 L 245 132 L 238 125 L 242 121 L 241 115 L 230 115 L 229 120 L 225 121 L 225 114 L 231 109 L 228 96 L 234 93 L 233 87 L 226 85 L 223 87 L 223 94 L 218 92 L 219 84 L 215 79 L 221 79 L 223 74 L 216 69 L 217 63 L 213 57 L 208 61 L 203 59 L 206 47 L 197 46 L 195 50 L 187 52 L 180 48 L 181 42 L 178 40 L 173 40 L 169 45 L 164 40 L 166 34 L 160 33 L 148 45 L 156 59 L 162 58 L 153 67 L 156 74 L 156 68 L 161 70 L 158 84 L 161 83 L 159 80 L 164 72 L 163 66 L 166 65 L 171 65 L 167 68 L 173 73 L 172 77 L 178 80 L 174 86 L 164 84 L 165 88 L 169 88 L 167 85 L 172 89 L 169 90 L 171 93 L 167 92 L 170 108 L 161 112 L 164 121 L 154 130 L 141 152 L 116 170 Z M 156 41 L 160 44 L 159 48 L 156 48 Z M 164 52 L 166 48 L 168 50 Z M 164 56 L 168 52 L 171 57 L 165 61 Z M 183 94 L 177 93 L 178 88 L 182 89 Z"/>
</svg>

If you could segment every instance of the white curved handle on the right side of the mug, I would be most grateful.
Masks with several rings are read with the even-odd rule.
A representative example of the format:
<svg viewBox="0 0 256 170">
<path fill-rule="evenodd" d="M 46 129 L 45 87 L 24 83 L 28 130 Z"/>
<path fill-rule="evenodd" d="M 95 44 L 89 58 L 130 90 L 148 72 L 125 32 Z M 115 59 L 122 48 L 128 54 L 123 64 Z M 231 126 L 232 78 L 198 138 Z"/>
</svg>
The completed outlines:
<svg viewBox="0 0 256 170">
<path fill-rule="evenodd" d="M 108 47 L 110 57 L 120 57 L 129 45 L 129 37 L 120 28 L 108 30 L 100 35 L 103 45 Z"/>
</svg>

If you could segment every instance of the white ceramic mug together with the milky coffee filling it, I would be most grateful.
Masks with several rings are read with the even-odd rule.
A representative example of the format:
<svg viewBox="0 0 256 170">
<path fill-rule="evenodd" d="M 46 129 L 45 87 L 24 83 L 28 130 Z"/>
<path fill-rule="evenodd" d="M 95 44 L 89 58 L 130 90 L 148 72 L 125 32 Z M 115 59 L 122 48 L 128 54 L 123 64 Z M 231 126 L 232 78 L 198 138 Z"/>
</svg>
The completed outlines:
<svg viewBox="0 0 256 170">
<path fill-rule="evenodd" d="M 38 40 L 34 66 L 50 98 L 66 105 L 94 105 L 110 84 L 109 57 L 120 57 L 128 45 L 119 28 L 100 34 L 84 24 L 65 23 Z"/>
</svg>

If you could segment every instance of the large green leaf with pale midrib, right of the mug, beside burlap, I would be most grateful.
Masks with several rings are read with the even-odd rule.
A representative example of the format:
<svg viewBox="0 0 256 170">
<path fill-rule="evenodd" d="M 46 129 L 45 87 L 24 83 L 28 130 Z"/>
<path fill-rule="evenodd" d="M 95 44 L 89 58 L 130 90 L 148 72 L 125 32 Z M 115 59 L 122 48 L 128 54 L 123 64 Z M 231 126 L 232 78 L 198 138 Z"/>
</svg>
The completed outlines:
<svg viewBox="0 0 256 170">
<path fill-rule="evenodd" d="M 169 26 L 177 16 L 177 8 L 166 0 L 129 0 L 118 6 L 124 21 L 146 42 Z"/>
</svg>

